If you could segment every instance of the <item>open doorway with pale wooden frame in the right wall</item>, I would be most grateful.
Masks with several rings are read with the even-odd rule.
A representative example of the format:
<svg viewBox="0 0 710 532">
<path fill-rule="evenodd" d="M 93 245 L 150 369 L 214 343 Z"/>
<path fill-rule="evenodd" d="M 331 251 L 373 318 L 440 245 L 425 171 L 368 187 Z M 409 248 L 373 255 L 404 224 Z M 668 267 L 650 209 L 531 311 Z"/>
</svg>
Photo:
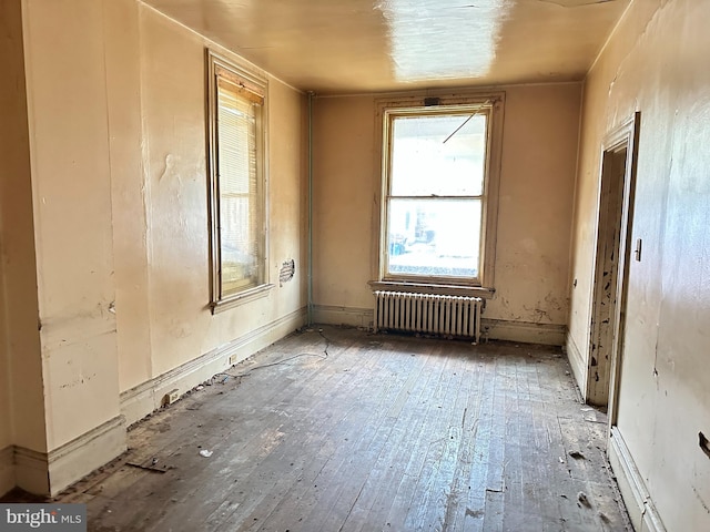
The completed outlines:
<svg viewBox="0 0 710 532">
<path fill-rule="evenodd" d="M 615 402 L 621 358 L 626 278 L 640 113 L 612 130 L 601 147 L 601 183 L 591 301 L 587 401 Z M 613 418 L 610 411 L 610 419 Z"/>
</svg>

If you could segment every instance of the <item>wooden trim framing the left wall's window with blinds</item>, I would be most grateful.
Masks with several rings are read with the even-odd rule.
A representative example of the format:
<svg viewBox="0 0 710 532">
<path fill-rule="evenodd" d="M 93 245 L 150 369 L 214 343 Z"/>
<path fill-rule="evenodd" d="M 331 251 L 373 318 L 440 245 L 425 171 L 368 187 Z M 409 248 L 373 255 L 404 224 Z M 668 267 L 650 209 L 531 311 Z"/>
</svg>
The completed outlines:
<svg viewBox="0 0 710 532">
<path fill-rule="evenodd" d="M 206 124 L 207 124 L 207 201 L 210 221 L 210 308 L 216 314 L 239 305 L 268 295 L 274 287 L 268 280 L 268 83 L 265 76 L 256 72 L 244 70 L 229 59 L 207 49 L 206 57 Z M 217 76 L 224 76 L 241 86 L 245 92 L 263 99 L 261 113 L 260 136 L 261 150 L 257 153 L 257 186 L 262 201 L 262 238 L 260 249 L 262 279 L 257 286 L 252 286 L 236 294 L 222 295 L 221 257 L 220 257 L 220 191 L 217 175 Z"/>
</svg>

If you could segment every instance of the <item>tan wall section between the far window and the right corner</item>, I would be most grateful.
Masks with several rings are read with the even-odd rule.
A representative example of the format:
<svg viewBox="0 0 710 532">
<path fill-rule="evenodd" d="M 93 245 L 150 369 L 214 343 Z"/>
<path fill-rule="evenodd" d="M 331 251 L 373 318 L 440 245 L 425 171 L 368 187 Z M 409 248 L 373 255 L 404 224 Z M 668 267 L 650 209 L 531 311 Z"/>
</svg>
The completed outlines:
<svg viewBox="0 0 710 532">
<path fill-rule="evenodd" d="M 485 318 L 567 323 L 580 85 L 506 90 L 496 296 Z"/>
</svg>

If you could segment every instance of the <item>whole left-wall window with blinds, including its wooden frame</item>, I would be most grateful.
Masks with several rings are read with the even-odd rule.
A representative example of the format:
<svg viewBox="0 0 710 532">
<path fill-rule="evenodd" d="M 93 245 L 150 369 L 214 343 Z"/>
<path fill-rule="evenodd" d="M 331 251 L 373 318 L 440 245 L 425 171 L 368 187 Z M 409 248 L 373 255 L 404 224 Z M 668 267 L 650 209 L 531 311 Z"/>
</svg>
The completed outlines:
<svg viewBox="0 0 710 532">
<path fill-rule="evenodd" d="M 264 293 L 266 82 L 207 51 L 213 311 Z"/>
</svg>

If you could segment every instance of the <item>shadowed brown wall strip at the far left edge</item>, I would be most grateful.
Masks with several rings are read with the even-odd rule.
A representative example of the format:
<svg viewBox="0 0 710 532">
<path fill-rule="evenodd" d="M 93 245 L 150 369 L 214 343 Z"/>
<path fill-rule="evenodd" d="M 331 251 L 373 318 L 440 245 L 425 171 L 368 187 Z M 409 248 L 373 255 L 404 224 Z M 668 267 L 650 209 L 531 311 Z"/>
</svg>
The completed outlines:
<svg viewBox="0 0 710 532">
<path fill-rule="evenodd" d="M 21 2 L 2 2 L 0 21 L 0 451 L 14 443 L 41 452 L 47 439 Z"/>
</svg>

